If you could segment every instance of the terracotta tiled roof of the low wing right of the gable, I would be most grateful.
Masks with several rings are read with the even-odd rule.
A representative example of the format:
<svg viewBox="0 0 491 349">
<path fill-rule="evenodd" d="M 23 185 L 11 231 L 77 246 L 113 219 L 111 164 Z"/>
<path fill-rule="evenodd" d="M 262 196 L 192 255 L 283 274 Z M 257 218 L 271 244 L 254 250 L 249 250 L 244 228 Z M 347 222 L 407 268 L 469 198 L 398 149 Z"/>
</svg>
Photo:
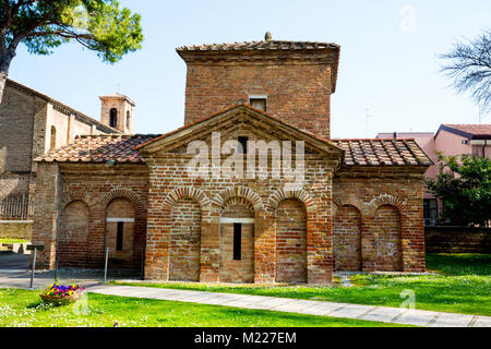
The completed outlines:
<svg viewBox="0 0 491 349">
<path fill-rule="evenodd" d="M 348 166 L 405 166 L 433 165 L 415 140 L 331 140 L 334 145 L 346 151 L 345 165 Z"/>
</svg>

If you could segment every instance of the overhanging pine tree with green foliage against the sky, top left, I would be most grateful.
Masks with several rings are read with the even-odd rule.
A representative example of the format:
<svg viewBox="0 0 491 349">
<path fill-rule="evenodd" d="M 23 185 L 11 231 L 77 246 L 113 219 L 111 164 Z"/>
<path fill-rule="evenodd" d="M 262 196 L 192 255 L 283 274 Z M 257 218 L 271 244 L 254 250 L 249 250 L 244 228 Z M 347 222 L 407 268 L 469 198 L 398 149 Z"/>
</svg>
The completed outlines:
<svg viewBox="0 0 491 349">
<path fill-rule="evenodd" d="M 140 15 L 116 0 L 0 0 L 0 103 L 15 51 L 50 55 L 71 40 L 113 63 L 143 41 Z"/>
</svg>

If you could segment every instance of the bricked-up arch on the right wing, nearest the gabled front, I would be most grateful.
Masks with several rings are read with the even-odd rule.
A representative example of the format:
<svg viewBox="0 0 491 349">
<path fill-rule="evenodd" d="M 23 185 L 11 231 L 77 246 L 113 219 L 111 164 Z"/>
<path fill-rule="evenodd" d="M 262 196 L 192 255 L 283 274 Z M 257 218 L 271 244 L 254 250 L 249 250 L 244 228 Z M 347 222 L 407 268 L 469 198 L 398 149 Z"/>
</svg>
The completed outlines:
<svg viewBox="0 0 491 349">
<path fill-rule="evenodd" d="M 334 269 L 361 270 L 361 217 L 358 208 L 337 208 L 333 229 Z"/>
</svg>

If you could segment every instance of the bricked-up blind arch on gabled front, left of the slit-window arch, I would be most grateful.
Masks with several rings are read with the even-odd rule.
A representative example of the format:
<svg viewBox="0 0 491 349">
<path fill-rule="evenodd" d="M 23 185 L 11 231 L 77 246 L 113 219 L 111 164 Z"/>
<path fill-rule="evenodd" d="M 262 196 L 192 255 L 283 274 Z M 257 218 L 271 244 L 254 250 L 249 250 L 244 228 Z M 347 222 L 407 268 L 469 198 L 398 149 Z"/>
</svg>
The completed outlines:
<svg viewBox="0 0 491 349">
<path fill-rule="evenodd" d="M 171 212 L 170 280 L 200 280 L 201 207 L 193 198 L 182 198 Z"/>
</svg>

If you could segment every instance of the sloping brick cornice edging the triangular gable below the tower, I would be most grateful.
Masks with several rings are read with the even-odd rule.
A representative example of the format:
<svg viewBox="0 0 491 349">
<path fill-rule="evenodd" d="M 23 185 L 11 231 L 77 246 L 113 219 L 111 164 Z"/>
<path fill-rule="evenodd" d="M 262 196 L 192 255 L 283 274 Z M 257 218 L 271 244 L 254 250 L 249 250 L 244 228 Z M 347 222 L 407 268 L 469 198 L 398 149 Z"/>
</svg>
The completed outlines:
<svg viewBox="0 0 491 349">
<path fill-rule="evenodd" d="M 213 132 L 229 133 L 240 125 L 253 127 L 256 133 L 272 135 L 278 140 L 304 141 L 306 148 L 321 154 L 343 156 L 344 151 L 330 141 L 291 127 L 277 118 L 248 105 L 231 107 L 189 125 L 163 134 L 135 147 L 141 153 L 171 152 L 195 140 L 203 140 Z"/>
</svg>

